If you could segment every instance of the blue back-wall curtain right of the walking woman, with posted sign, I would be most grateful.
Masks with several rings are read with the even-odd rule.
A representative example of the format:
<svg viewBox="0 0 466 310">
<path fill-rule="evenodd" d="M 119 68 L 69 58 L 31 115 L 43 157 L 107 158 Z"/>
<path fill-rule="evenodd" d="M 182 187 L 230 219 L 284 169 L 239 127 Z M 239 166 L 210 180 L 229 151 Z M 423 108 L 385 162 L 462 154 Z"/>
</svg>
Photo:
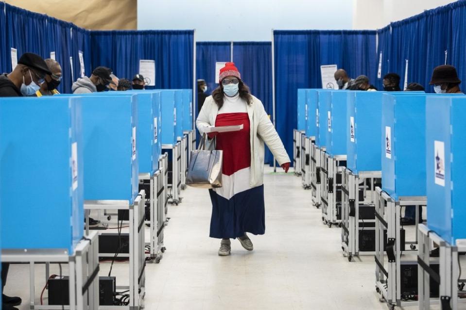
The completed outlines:
<svg viewBox="0 0 466 310">
<path fill-rule="evenodd" d="M 298 88 L 322 88 L 320 65 L 377 78 L 375 31 L 275 31 L 276 129 L 290 156 Z"/>
</svg>

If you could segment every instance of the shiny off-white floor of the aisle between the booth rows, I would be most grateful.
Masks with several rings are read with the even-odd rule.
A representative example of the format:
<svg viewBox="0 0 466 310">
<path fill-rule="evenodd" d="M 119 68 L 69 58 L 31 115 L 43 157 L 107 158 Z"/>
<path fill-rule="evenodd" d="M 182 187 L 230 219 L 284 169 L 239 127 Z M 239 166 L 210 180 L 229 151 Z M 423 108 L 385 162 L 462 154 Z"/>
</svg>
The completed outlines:
<svg viewBox="0 0 466 310">
<path fill-rule="evenodd" d="M 251 236 L 253 252 L 233 241 L 229 257 L 219 257 L 219 240 L 208 237 L 207 191 L 182 192 L 183 202 L 170 206 L 164 258 L 146 268 L 145 309 L 387 309 L 375 292 L 373 257 L 342 256 L 340 228 L 322 224 L 300 178 L 267 170 L 264 183 L 266 234 Z M 108 264 L 102 270 L 108 273 Z M 118 264 L 113 274 L 125 282 L 126 270 Z M 12 266 L 6 293 L 24 298 L 21 310 L 29 309 L 27 285 L 27 266 Z"/>
</svg>

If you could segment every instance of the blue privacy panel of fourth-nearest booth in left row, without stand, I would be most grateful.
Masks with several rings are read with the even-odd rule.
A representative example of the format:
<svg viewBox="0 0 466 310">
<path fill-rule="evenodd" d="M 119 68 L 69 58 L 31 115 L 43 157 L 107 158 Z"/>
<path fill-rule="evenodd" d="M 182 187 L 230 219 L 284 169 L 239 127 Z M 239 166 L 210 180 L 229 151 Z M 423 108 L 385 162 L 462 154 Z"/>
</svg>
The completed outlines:
<svg viewBox="0 0 466 310">
<path fill-rule="evenodd" d="M 162 144 L 176 144 L 175 126 L 175 91 L 160 90 L 160 111 L 162 118 Z"/>
</svg>

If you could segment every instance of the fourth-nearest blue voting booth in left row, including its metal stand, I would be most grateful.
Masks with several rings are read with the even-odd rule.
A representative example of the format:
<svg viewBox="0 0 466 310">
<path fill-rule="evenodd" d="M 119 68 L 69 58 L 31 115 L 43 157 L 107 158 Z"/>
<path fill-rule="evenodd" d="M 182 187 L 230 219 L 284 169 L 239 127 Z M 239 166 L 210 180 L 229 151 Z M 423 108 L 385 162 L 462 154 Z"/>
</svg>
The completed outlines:
<svg viewBox="0 0 466 310">
<path fill-rule="evenodd" d="M 178 100 L 182 98 L 182 91 L 160 90 L 160 92 L 162 153 L 168 154 L 167 185 L 172 188 L 172 194 L 168 198 L 171 203 L 178 204 L 181 202 L 179 196 L 181 192 L 181 142 L 176 138 L 176 124 L 179 123 L 177 122 L 179 115 L 177 116 L 176 98 Z M 179 100 L 178 106 L 180 104 Z"/>
</svg>

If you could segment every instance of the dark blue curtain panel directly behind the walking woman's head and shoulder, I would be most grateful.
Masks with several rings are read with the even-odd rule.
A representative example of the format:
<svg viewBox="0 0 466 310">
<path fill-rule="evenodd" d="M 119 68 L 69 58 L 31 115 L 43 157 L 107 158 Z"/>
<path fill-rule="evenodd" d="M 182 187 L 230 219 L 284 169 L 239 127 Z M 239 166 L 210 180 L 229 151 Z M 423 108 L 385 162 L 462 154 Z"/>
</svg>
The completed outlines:
<svg viewBox="0 0 466 310">
<path fill-rule="evenodd" d="M 251 93 L 262 101 L 265 111 L 272 116 L 272 43 L 234 42 L 233 62 Z M 273 164 L 273 156 L 268 149 L 265 163 Z"/>
</svg>

